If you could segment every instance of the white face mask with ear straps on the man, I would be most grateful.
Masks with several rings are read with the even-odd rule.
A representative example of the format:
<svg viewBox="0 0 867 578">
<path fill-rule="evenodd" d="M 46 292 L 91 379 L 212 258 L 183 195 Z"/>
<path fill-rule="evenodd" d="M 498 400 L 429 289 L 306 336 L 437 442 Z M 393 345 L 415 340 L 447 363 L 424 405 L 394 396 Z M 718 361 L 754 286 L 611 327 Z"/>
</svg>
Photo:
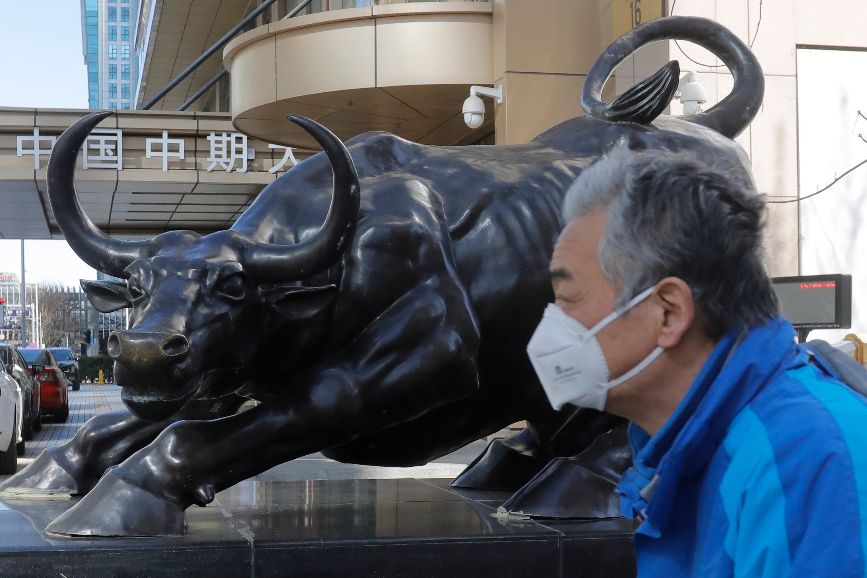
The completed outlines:
<svg viewBox="0 0 867 578">
<path fill-rule="evenodd" d="M 527 345 L 527 354 L 555 410 L 559 411 L 563 404 L 570 403 L 603 411 L 612 387 L 634 378 L 665 351 L 664 347 L 657 347 L 641 363 L 609 381 L 608 363 L 596 340 L 596 333 L 605 325 L 647 299 L 654 289 L 649 287 L 639 293 L 592 329 L 570 318 L 557 305 L 548 304 Z"/>
</svg>

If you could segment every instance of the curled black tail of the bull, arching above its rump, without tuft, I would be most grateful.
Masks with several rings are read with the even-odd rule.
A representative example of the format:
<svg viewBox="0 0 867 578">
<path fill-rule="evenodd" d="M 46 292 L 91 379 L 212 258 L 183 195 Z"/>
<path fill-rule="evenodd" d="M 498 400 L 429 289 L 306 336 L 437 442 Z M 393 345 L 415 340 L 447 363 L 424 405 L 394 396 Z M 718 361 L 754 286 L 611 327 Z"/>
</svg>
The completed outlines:
<svg viewBox="0 0 867 578">
<path fill-rule="evenodd" d="M 581 95 L 584 112 L 594 118 L 610 118 L 609 106 L 602 102 L 602 89 L 617 64 L 645 44 L 658 40 L 688 40 L 718 56 L 734 77 L 732 93 L 707 112 L 688 115 L 688 121 L 713 128 L 734 138 L 759 112 L 765 95 L 765 76 L 752 50 L 719 23 L 695 16 L 666 16 L 636 26 L 605 49 L 593 64 Z"/>
</svg>

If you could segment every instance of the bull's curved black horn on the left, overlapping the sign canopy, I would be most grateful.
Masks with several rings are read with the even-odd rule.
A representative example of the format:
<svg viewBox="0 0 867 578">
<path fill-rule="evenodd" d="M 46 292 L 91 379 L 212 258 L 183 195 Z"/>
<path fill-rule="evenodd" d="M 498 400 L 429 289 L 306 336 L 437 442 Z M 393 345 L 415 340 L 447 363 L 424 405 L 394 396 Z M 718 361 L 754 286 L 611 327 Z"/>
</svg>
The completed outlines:
<svg viewBox="0 0 867 578">
<path fill-rule="evenodd" d="M 63 131 L 49 158 L 48 190 L 57 226 L 81 260 L 102 273 L 126 277 L 123 270 L 130 263 L 150 257 L 152 240 L 124 241 L 102 233 L 81 209 L 75 193 L 78 151 L 90 131 L 111 115 L 110 111 L 92 113 Z"/>
</svg>

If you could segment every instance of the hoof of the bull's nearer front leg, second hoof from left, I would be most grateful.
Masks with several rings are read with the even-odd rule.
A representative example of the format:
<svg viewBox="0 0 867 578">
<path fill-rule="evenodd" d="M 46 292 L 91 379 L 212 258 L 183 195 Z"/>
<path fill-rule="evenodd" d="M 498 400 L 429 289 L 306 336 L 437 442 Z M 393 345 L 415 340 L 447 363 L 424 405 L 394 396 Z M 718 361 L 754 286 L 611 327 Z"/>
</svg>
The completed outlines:
<svg viewBox="0 0 867 578">
<path fill-rule="evenodd" d="M 128 483 L 112 468 L 46 531 L 90 537 L 183 535 L 184 525 L 183 509 Z"/>
</svg>

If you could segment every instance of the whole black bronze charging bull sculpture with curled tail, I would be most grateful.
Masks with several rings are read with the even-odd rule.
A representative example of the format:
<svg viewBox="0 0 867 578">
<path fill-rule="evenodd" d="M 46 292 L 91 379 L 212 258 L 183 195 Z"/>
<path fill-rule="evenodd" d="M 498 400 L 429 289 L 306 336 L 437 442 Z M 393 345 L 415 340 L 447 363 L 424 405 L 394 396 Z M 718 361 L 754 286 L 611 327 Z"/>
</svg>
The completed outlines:
<svg viewBox="0 0 867 578">
<path fill-rule="evenodd" d="M 670 38 L 720 56 L 731 95 L 698 115 L 661 115 L 678 83 L 670 62 L 600 101 L 623 58 Z M 525 354 L 553 297 L 564 192 L 621 142 L 697 152 L 753 187 L 731 139 L 763 90 L 759 63 L 728 30 L 661 18 L 599 58 L 586 115 L 530 142 L 430 147 L 368 133 L 344 146 L 291 117 L 324 152 L 266 187 L 229 230 L 139 241 L 101 233 L 76 199 L 81 143 L 112 113 L 82 118 L 56 143 L 49 197 L 81 259 L 127 279 L 82 285 L 100 311 L 130 309 L 129 330 L 108 338 L 128 411 L 94 417 L 3 489 L 86 495 L 49 525 L 55 533 L 177 535 L 192 504 L 299 456 L 423 464 L 525 419 L 455 484 L 529 482 L 545 515 L 616 515 L 610 490 L 629 450 L 623 437 L 597 438 L 621 420 L 553 411 Z M 261 403 L 238 413 L 248 398 Z M 565 479 L 554 467 L 564 458 L 577 464 Z"/>
</svg>

